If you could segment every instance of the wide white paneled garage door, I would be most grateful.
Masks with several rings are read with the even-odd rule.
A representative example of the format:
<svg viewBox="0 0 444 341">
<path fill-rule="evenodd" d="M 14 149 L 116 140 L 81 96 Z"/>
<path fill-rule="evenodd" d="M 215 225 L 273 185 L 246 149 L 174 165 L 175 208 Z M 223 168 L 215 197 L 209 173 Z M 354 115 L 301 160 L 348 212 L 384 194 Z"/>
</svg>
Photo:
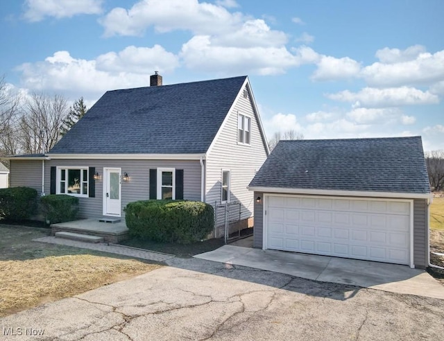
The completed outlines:
<svg viewBox="0 0 444 341">
<path fill-rule="evenodd" d="M 265 248 L 410 264 L 410 202 L 266 197 Z"/>
</svg>

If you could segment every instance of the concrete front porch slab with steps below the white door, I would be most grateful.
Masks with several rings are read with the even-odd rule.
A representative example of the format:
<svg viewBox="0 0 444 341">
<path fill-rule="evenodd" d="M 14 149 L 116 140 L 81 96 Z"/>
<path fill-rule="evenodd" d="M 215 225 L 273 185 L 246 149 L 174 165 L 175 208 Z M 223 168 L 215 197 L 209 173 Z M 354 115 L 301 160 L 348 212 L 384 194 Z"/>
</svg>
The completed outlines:
<svg viewBox="0 0 444 341">
<path fill-rule="evenodd" d="M 119 243 L 120 241 L 128 239 L 128 232 L 125 221 L 113 217 L 82 219 L 51 224 L 51 234 L 53 236 L 89 243 Z"/>
</svg>

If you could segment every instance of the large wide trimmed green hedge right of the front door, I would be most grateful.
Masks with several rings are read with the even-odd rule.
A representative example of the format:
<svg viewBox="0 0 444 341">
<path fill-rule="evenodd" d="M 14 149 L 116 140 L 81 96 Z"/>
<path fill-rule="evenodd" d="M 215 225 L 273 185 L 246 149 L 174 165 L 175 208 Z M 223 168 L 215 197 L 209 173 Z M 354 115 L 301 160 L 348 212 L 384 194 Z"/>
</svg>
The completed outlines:
<svg viewBox="0 0 444 341">
<path fill-rule="evenodd" d="M 205 239 L 214 227 L 210 204 L 187 200 L 143 200 L 126 205 L 130 235 L 142 240 L 188 244 Z"/>
</svg>

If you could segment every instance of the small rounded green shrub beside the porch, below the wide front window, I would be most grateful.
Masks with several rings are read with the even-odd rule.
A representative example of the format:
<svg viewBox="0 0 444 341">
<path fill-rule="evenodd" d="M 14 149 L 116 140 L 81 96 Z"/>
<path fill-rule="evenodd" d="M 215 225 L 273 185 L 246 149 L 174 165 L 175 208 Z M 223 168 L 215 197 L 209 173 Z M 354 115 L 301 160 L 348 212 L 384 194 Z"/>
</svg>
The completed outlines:
<svg viewBox="0 0 444 341">
<path fill-rule="evenodd" d="M 78 198 L 66 194 L 51 194 L 40 198 L 46 222 L 56 224 L 76 220 Z"/>
</svg>

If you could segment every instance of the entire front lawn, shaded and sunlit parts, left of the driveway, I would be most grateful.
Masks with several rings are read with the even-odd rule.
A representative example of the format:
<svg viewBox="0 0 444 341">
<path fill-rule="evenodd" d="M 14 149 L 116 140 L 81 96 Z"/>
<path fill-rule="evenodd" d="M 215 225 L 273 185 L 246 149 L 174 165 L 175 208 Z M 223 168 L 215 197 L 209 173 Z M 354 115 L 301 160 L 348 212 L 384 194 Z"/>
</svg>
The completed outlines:
<svg viewBox="0 0 444 341">
<path fill-rule="evenodd" d="M 0 317 L 71 297 L 160 265 L 33 241 L 49 229 L 0 225 Z"/>
</svg>

